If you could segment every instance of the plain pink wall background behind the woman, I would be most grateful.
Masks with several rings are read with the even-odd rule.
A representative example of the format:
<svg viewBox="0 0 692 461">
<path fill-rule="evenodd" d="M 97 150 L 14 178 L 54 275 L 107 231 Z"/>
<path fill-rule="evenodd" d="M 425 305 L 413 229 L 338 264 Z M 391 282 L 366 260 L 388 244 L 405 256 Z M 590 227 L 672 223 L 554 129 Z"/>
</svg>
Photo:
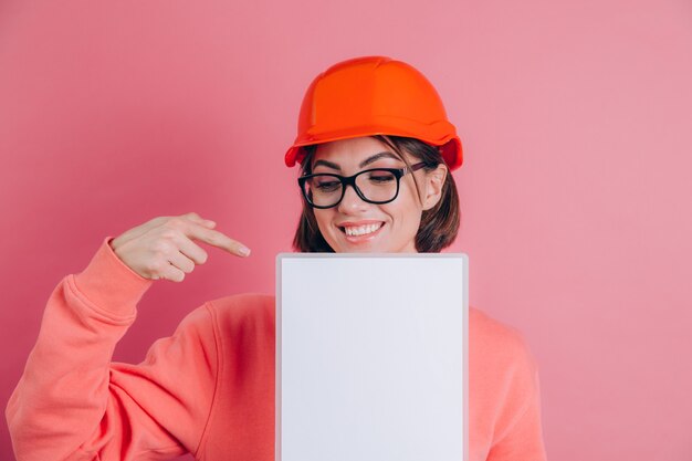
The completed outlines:
<svg viewBox="0 0 692 461">
<path fill-rule="evenodd" d="M 692 458 L 692 3 L 0 2 L 0 402 L 105 235 L 197 211 L 247 243 L 156 283 L 116 359 L 203 301 L 274 289 L 303 92 L 387 54 L 436 84 L 471 304 L 521 329 L 553 460 Z M 0 459 L 11 459 L 4 419 Z"/>
</svg>

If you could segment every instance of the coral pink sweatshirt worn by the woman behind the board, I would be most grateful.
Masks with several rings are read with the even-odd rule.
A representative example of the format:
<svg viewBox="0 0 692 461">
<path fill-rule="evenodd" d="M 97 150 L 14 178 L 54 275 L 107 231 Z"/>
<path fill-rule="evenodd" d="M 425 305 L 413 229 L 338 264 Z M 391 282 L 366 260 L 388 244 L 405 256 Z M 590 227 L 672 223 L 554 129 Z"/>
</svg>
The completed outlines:
<svg viewBox="0 0 692 461">
<path fill-rule="evenodd" d="M 18 461 L 274 458 L 274 297 L 192 311 L 139 365 L 111 362 L 151 281 L 102 242 L 45 307 L 6 416 Z M 469 455 L 544 460 L 536 365 L 521 336 L 469 313 Z"/>
</svg>

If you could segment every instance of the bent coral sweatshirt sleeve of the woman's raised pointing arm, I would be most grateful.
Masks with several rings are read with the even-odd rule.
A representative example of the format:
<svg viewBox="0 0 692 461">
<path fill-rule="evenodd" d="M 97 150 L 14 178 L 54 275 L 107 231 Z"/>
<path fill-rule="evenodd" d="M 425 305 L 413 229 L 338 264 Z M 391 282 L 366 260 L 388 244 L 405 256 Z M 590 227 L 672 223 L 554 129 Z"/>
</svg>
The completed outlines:
<svg viewBox="0 0 692 461">
<path fill-rule="evenodd" d="M 139 365 L 112 363 L 151 281 L 102 242 L 51 294 L 6 409 L 18 461 L 161 460 L 195 452 L 217 376 L 212 312 L 190 313 Z"/>
</svg>

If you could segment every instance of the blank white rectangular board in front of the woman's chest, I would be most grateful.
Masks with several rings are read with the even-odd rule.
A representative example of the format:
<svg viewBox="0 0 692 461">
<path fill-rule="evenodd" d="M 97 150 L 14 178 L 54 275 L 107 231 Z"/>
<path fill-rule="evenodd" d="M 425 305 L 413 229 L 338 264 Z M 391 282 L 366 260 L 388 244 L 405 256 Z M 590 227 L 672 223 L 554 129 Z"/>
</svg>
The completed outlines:
<svg viewBox="0 0 692 461">
<path fill-rule="evenodd" d="M 465 459 L 465 254 L 276 259 L 276 461 Z"/>
</svg>

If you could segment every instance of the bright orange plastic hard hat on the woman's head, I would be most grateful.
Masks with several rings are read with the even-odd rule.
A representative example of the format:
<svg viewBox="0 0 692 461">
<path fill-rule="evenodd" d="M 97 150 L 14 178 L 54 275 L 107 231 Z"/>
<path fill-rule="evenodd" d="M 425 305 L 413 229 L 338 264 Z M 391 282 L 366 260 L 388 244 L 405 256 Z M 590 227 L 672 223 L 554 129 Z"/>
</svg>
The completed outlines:
<svg viewBox="0 0 692 461">
<path fill-rule="evenodd" d="M 416 69 L 386 56 L 343 61 L 317 75 L 303 97 L 285 161 L 301 163 L 303 146 L 373 135 L 439 146 L 450 170 L 462 164 L 461 140 L 438 92 Z"/>
</svg>

